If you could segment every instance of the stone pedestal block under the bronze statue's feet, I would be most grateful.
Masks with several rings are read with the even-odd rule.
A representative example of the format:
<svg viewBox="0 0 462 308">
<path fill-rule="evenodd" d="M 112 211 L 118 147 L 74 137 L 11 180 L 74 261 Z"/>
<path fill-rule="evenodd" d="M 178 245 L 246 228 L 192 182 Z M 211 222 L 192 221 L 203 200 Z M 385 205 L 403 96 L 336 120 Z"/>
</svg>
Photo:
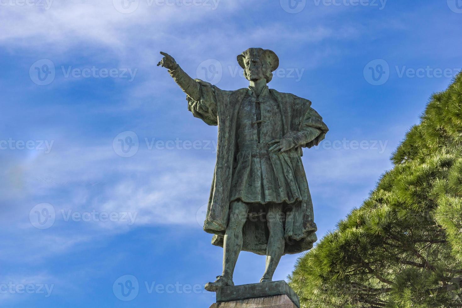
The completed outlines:
<svg viewBox="0 0 462 308">
<path fill-rule="evenodd" d="M 221 288 L 210 308 L 300 308 L 300 301 L 281 280 Z"/>
</svg>

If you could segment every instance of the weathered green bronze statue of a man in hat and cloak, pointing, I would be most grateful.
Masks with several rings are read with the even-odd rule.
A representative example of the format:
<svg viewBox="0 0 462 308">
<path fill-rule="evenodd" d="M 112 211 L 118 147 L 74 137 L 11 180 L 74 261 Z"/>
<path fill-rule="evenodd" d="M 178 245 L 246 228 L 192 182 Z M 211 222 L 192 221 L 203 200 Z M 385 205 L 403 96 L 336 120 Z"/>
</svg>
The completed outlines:
<svg viewBox="0 0 462 308">
<path fill-rule="evenodd" d="M 241 250 L 266 255 L 260 282 L 272 281 L 284 254 L 313 247 L 313 221 L 302 148 L 318 145 L 328 132 L 311 102 L 268 89 L 279 66 L 267 49 L 249 48 L 237 56 L 249 88 L 224 91 L 192 79 L 166 53 L 166 67 L 186 93 L 188 109 L 208 125 L 218 125 L 217 163 L 204 230 L 223 247 L 223 273 L 206 290 L 234 285 Z"/>
</svg>

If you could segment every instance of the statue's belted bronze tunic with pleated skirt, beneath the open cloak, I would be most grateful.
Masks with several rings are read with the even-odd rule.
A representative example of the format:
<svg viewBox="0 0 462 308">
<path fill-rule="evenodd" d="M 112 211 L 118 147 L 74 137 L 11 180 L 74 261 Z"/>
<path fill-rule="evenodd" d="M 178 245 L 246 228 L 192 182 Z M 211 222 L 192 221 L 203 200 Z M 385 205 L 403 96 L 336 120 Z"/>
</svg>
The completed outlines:
<svg viewBox="0 0 462 308">
<path fill-rule="evenodd" d="M 259 96 L 249 87 L 237 115 L 237 155 L 233 164 L 231 201 L 241 199 L 247 203 L 267 204 L 303 199 L 300 190 L 308 185 L 298 183 L 295 175 L 304 173 L 301 157 L 287 160 L 268 151 L 274 145 L 268 142 L 283 139 L 282 133 L 281 110 L 268 87 L 264 87 Z M 312 135 L 314 138 L 320 131 L 306 127 L 303 133 L 305 135 L 300 138 L 307 139 Z M 306 181 L 306 177 L 304 179 Z"/>
</svg>

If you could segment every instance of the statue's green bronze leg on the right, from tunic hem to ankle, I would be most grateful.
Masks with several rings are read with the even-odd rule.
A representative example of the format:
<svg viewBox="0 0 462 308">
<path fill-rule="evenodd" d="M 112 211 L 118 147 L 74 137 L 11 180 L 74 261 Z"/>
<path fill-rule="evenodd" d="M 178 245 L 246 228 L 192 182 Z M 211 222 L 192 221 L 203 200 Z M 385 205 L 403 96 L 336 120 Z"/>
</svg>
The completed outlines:
<svg viewBox="0 0 462 308">
<path fill-rule="evenodd" d="M 276 267 L 284 254 L 284 224 L 281 204 L 271 204 L 267 208 L 267 224 L 269 229 L 268 246 L 266 250 L 266 269 L 261 281 L 273 280 Z"/>
</svg>

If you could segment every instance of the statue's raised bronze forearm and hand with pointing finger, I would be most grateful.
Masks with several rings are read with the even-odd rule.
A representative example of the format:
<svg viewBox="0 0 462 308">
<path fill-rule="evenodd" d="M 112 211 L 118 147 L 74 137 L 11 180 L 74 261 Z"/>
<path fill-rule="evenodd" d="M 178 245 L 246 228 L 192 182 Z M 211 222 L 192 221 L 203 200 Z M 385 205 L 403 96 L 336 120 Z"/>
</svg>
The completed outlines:
<svg viewBox="0 0 462 308">
<path fill-rule="evenodd" d="M 201 98 L 201 91 L 199 89 L 199 83 L 188 76 L 182 68 L 176 63 L 175 59 L 170 54 L 160 52 L 164 57 L 159 61 L 157 66 L 165 67 L 169 70 L 170 76 L 173 77 L 176 84 L 180 86 L 181 90 L 198 101 Z"/>
</svg>

